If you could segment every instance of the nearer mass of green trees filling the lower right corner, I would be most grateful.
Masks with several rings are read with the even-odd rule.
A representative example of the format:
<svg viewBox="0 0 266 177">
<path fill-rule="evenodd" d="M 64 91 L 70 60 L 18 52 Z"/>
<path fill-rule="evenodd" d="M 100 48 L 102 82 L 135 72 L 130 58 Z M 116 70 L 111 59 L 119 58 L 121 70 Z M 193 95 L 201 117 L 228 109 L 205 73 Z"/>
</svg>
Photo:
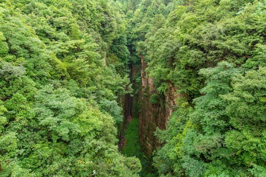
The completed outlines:
<svg viewBox="0 0 266 177">
<path fill-rule="evenodd" d="M 154 157 L 155 167 L 173 176 L 264 174 L 265 69 L 243 74 L 221 62 L 200 74 L 206 86 L 194 110 L 179 100 L 168 129 L 157 132 L 165 145 Z"/>
</svg>

